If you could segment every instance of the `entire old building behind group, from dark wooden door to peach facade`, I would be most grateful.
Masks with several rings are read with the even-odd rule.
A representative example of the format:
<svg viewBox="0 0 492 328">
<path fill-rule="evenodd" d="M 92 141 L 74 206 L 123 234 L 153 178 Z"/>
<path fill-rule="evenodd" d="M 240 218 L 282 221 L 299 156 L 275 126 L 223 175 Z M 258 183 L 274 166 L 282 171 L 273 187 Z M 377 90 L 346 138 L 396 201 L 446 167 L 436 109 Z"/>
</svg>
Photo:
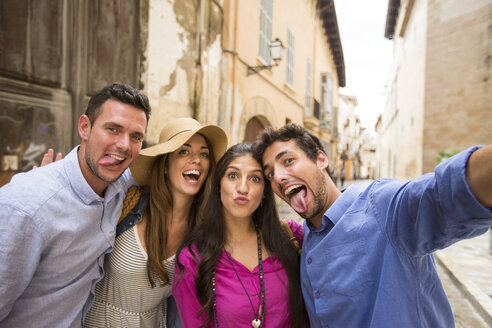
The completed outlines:
<svg viewBox="0 0 492 328">
<path fill-rule="evenodd" d="M 191 116 L 231 144 L 297 122 L 336 153 L 345 68 L 333 0 L 0 0 L 0 44 L 0 185 L 48 147 L 77 145 L 78 117 L 112 82 L 149 96 L 147 144 Z"/>
</svg>

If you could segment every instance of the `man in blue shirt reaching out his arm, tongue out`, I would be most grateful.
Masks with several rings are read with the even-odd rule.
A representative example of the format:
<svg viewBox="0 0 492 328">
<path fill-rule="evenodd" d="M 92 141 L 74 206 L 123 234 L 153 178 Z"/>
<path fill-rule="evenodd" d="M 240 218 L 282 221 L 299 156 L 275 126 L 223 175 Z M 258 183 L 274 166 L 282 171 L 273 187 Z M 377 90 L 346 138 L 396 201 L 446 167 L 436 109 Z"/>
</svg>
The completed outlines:
<svg viewBox="0 0 492 328">
<path fill-rule="evenodd" d="M 492 146 L 410 182 L 337 190 L 319 140 L 291 124 L 255 144 L 275 193 L 306 219 L 302 292 L 311 327 L 453 327 L 433 252 L 492 225 Z"/>
</svg>

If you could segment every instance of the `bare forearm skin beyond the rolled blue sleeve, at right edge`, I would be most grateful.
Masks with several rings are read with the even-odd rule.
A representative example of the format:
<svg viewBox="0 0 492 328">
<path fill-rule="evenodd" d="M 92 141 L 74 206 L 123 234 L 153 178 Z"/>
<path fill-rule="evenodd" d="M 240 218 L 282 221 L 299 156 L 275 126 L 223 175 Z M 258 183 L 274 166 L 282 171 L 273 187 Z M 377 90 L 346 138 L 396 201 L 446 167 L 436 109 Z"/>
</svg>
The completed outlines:
<svg viewBox="0 0 492 328">
<path fill-rule="evenodd" d="M 492 145 L 474 151 L 466 164 L 466 181 L 477 200 L 492 207 Z"/>
</svg>

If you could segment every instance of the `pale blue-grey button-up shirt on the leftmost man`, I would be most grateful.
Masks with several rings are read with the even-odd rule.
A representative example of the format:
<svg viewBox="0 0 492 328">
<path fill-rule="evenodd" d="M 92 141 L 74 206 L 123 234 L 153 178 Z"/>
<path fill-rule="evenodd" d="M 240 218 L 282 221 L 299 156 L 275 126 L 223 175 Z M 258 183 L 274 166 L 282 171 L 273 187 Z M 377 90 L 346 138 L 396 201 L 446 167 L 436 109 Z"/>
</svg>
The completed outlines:
<svg viewBox="0 0 492 328">
<path fill-rule="evenodd" d="M 92 304 L 134 180 L 127 170 L 99 197 L 77 150 L 0 188 L 0 327 L 81 327 Z"/>
</svg>

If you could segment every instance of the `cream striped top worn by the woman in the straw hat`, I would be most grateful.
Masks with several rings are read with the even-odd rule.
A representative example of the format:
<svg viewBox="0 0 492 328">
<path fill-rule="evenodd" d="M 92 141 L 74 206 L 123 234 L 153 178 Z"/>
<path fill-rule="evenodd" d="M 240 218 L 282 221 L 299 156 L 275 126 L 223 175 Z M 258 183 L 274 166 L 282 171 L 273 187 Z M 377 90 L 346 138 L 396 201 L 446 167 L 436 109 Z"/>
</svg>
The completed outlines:
<svg viewBox="0 0 492 328">
<path fill-rule="evenodd" d="M 147 253 L 138 238 L 137 227 L 123 232 L 113 251 L 104 259 L 104 277 L 96 284 L 94 304 L 84 327 L 166 327 L 166 298 L 171 295 L 175 256 L 164 261 L 169 285 L 153 275 L 147 277 Z"/>
</svg>

